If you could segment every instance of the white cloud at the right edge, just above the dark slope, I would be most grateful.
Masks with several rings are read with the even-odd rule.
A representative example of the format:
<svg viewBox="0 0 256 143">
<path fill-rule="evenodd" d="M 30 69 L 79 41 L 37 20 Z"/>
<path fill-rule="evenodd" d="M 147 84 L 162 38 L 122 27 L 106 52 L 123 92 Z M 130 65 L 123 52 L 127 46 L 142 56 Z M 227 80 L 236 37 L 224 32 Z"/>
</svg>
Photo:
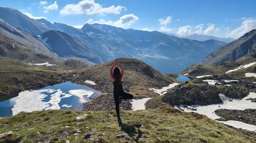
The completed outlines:
<svg viewBox="0 0 256 143">
<path fill-rule="evenodd" d="M 228 38 L 238 39 L 243 36 L 245 33 L 256 28 L 256 19 L 247 18 L 242 22 L 242 25 L 232 30 L 227 34 Z"/>
</svg>

